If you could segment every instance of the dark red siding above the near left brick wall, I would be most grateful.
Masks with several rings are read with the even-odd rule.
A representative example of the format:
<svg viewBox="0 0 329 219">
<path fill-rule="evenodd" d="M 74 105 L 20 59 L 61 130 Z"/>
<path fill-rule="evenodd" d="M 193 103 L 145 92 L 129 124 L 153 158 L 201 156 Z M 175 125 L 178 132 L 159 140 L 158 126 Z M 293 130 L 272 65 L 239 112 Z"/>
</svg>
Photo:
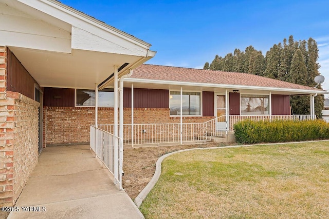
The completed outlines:
<svg viewBox="0 0 329 219">
<path fill-rule="evenodd" d="M 7 90 L 19 92 L 34 99 L 34 78 L 7 47 Z"/>
</svg>

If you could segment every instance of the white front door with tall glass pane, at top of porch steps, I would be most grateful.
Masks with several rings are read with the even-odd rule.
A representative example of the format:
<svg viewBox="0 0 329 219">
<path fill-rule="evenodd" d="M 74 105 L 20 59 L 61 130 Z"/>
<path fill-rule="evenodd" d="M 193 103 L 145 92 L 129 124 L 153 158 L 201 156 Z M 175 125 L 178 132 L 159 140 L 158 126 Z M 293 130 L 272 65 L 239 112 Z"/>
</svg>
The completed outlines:
<svg viewBox="0 0 329 219">
<path fill-rule="evenodd" d="M 216 94 L 216 131 L 226 130 L 226 97 Z"/>
</svg>

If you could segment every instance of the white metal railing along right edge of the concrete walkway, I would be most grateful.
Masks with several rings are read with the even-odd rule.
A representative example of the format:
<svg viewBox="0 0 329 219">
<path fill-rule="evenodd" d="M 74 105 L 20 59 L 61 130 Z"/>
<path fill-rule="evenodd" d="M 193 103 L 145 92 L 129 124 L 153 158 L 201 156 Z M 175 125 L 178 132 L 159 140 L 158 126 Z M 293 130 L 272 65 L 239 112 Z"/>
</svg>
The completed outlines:
<svg viewBox="0 0 329 219">
<path fill-rule="evenodd" d="M 114 176 L 115 184 L 122 189 L 122 153 L 120 138 L 95 125 L 90 126 L 90 148 Z"/>
</svg>

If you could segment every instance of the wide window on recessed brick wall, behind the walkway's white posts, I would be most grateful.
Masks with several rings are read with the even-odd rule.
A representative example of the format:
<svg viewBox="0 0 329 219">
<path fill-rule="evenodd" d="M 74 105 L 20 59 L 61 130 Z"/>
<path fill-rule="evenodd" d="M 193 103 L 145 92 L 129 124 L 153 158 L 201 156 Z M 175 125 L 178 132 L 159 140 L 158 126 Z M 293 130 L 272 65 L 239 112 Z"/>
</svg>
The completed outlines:
<svg viewBox="0 0 329 219">
<path fill-rule="evenodd" d="M 94 107 L 95 90 L 76 90 L 76 106 Z M 99 107 L 114 107 L 114 89 L 103 89 L 98 91 Z"/>
</svg>

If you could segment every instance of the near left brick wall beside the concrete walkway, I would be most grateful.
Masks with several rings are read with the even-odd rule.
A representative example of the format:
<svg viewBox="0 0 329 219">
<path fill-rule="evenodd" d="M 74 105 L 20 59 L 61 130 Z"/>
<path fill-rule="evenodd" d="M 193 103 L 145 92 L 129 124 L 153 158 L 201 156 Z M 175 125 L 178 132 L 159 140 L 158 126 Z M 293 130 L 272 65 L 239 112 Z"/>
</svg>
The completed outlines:
<svg viewBox="0 0 329 219">
<path fill-rule="evenodd" d="M 13 206 L 38 161 L 38 102 L 6 91 L 6 48 L 0 47 L 0 206 Z"/>
</svg>

